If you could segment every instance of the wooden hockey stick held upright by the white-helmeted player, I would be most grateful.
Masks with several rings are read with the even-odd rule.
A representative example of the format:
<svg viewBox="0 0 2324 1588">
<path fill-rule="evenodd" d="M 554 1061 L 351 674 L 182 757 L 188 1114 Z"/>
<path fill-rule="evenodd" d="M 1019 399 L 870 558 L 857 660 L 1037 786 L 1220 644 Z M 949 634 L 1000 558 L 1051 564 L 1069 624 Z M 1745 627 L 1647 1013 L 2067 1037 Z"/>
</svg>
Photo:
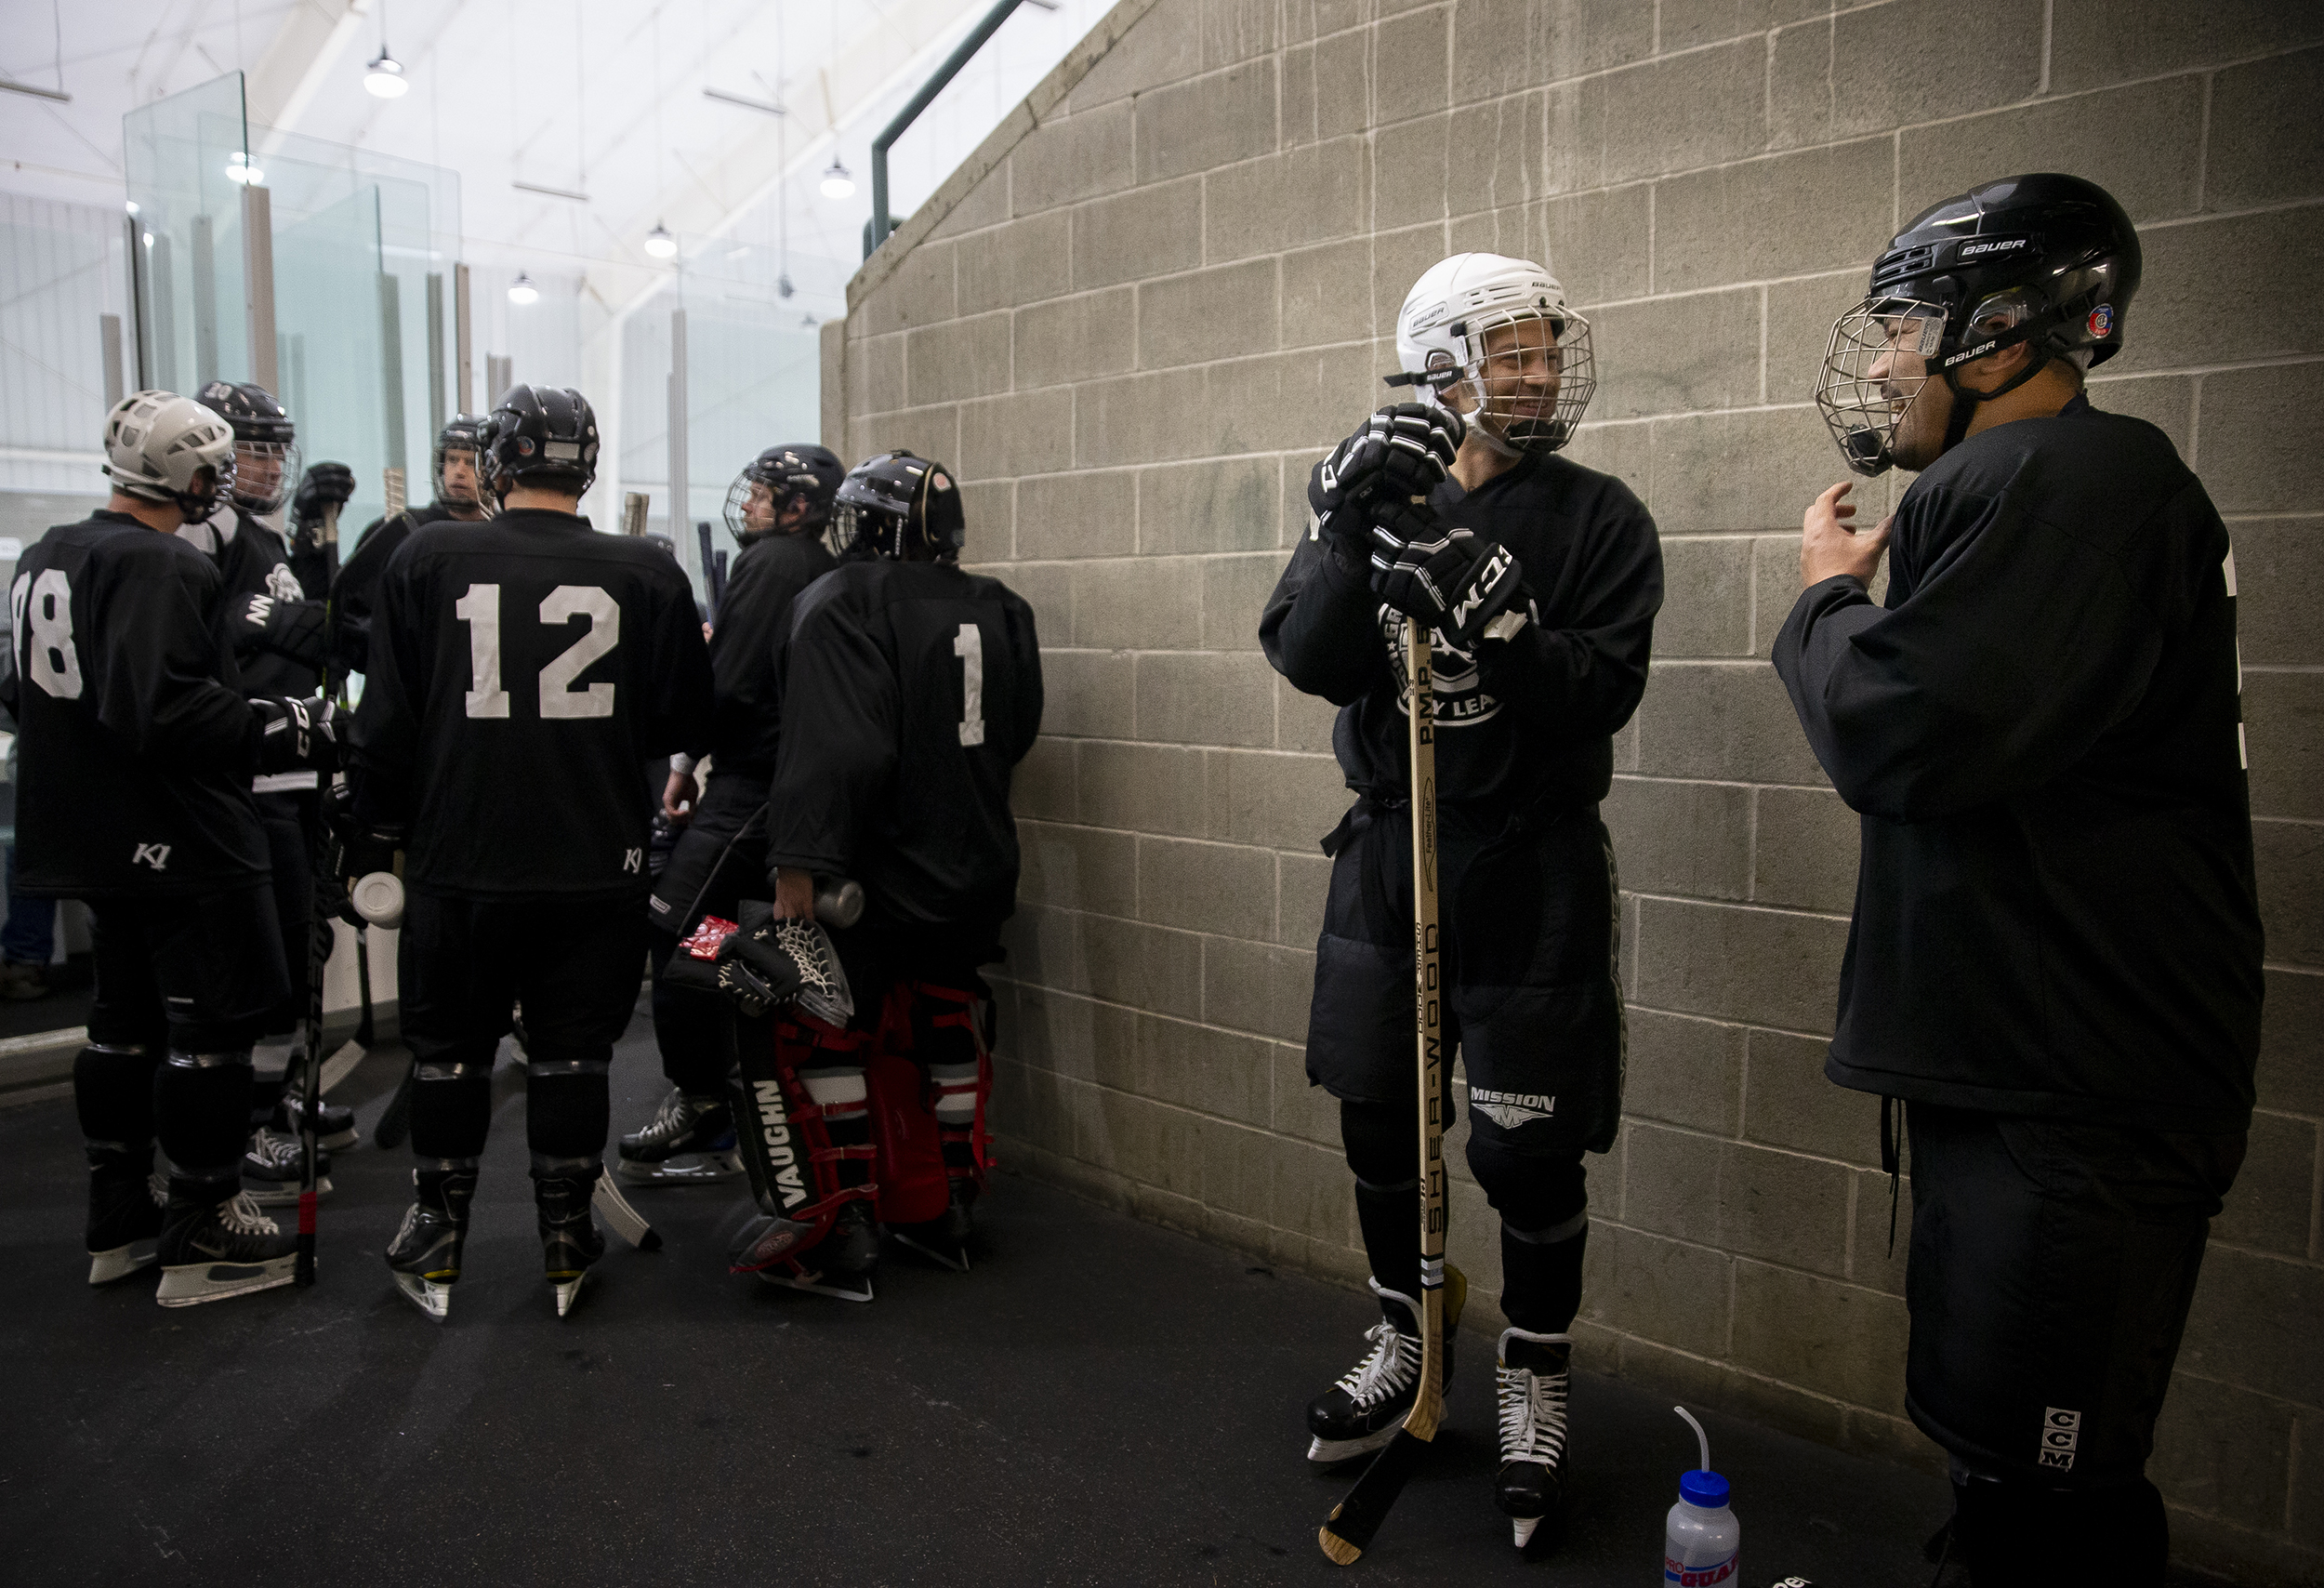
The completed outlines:
<svg viewBox="0 0 2324 1588">
<path fill-rule="evenodd" d="M 1404 1428 L 1387 1442 L 1315 1541 L 1332 1565 L 1355 1565 L 1371 1535 L 1387 1521 L 1420 1446 L 1436 1437 L 1446 1393 L 1446 1118 L 1443 1009 L 1439 1007 L 1443 944 L 1436 935 L 1436 677 L 1429 630 L 1404 618 L 1404 658 L 1411 674 L 1413 763 L 1413 1028 L 1420 1058 L 1420 1390 Z"/>
</svg>

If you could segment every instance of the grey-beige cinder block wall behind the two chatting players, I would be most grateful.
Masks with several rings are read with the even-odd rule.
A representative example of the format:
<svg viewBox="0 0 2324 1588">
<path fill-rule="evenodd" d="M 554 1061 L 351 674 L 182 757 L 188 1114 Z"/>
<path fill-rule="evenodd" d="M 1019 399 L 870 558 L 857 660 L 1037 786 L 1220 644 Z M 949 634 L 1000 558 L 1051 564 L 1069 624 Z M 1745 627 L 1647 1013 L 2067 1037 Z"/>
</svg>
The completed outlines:
<svg viewBox="0 0 2324 1588">
<path fill-rule="evenodd" d="M 825 335 L 830 444 L 953 463 L 971 560 L 1041 621 L 1009 1163 L 1364 1272 L 1299 1049 L 1348 795 L 1257 616 L 1308 465 L 1385 398 L 1413 277 L 1529 253 L 1597 328 L 1576 456 L 1648 500 L 1669 567 L 1606 804 L 1629 1123 L 1592 1160 L 1583 1362 L 1934 1462 L 1875 1104 L 1820 1067 L 1855 818 L 1766 653 L 1841 477 L 1808 391 L 1871 256 L 1973 179 L 2078 172 L 2147 253 L 2092 395 L 2168 430 L 2236 535 L 2271 960 L 2252 1156 L 2154 1469 L 2182 1558 L 2317 1581 L 2291 1539 L 2324 1537 L 2319 42 L 2296 0 L 1125 0 Z M 1452 1230 L 1492 1321 L 1466 1181 Z"/>
</svg>

